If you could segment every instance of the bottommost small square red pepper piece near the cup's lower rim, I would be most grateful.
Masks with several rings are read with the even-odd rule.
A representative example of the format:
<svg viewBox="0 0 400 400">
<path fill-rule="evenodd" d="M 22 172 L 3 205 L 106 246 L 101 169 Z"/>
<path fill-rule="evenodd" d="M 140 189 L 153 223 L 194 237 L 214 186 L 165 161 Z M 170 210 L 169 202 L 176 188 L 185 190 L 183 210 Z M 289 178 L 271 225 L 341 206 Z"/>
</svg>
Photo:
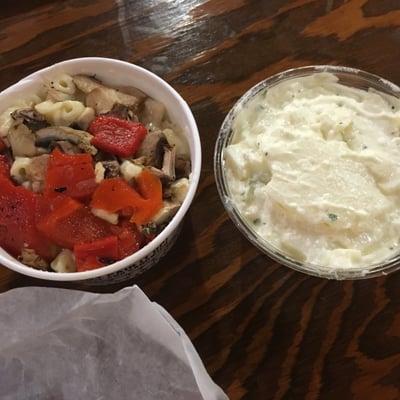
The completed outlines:
<svg viewBox="0 0 400 400">
<path fill-rule="evenodd" d="M 78 272 L 103 267 L 118 259 L 118 238 L 108 236 L 93 242 L 76 244 L 74 254 Z"/>
</svg>

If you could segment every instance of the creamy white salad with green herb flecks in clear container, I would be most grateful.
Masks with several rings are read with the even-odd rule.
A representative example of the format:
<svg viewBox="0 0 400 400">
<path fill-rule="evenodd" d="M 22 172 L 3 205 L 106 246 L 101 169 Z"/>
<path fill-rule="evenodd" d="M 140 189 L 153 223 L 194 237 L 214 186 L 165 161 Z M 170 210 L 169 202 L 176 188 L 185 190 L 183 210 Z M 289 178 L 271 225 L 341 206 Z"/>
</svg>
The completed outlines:
<svg viewBox="0 0 400 400">
<path fill-rule="evenodd" d="M 399 252 L 400 101 L 328 73 L 264 89 L 224 152 L 233 202 L 298 261 L 359 268 Z"/>
</svg>

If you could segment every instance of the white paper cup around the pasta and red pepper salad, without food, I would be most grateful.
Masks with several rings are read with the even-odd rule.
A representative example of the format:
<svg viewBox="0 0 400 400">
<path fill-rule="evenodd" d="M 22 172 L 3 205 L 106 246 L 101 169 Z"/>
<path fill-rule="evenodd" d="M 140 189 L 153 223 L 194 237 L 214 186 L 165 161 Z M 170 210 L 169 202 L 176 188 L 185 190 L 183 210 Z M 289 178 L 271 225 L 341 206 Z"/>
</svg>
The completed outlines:
<svg viewBox="0 0 400 400">
<path fill-rule="evenodd" d="M 67 74 L 96 74 L 96 77 L 110 86 L 135 86 L 149 96 L 161 101 L 167 108 L 173 122 L 186 135 L 192 163 L 188 194 L 168 226 L 149 244 L 135 254 L 114 264 L 85 272 L 57 273 L 27 267 L 0 248 L 0 264 L 16 272 L 34 278 L 51 281 L 84 281 L 87 284 L 109 284 L 130 279 L 155 265 L 174 244 L 180 225 L 193 201 L 201 170 L 201 145 L 199 132 L 193 114 L 187 103 L 170 86 L 152 72 L 124 61 L 110 58 L 76 58 L 54 64 L 22 79 L 0 93 L 0 113 L 15 102 L 40 92 L 43 78 Z"/>
</svg>

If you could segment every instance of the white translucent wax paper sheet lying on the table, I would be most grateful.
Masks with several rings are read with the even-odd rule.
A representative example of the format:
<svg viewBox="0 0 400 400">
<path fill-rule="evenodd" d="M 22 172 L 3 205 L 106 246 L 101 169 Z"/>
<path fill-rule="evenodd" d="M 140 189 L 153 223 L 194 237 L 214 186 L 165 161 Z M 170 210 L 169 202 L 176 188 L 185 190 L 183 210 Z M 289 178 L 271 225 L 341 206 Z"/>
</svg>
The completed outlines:
<svg viewBox="0 0 400 400">
<path fill-rule="evenodd" d="M 0 399 L 226 400 L 187 335 L 137 287 L 0 295 Z"/>
</svg>

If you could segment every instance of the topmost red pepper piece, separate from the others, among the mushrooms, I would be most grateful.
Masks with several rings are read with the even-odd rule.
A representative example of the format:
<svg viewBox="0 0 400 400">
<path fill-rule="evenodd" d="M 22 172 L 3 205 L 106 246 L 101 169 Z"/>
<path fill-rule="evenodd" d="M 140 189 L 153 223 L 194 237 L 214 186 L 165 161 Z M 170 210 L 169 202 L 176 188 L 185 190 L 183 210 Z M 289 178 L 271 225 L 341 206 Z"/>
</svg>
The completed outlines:
<svg viewBox="0 0 400 400">
<path fill-rule="evenodd" d="M 147 134 L 141 123 L 105 115 L 92 121 L 88 130 L 94 135 L 93 146 L 120 157 L 133 156 Z"/>
</svg>

